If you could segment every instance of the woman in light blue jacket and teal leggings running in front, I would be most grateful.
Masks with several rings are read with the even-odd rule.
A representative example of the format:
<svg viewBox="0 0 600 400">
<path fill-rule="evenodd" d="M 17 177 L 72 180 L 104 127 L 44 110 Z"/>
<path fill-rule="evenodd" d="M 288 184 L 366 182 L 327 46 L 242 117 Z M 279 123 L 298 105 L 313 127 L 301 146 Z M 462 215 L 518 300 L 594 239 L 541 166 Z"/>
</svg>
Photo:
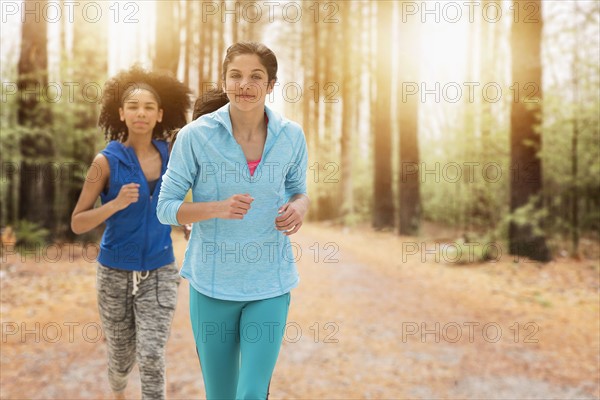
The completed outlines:
<svg viewBox="0 0 600 400">
<path fill-rule="evenodd" d="M 306 141 L 265 106 L 277 80 L 266 46 L 231 46 L 222 78 L 229 102 L 179 132 L 157 213 L 193 223 L 181 275 L 207 399 L 265 399 L 299 282 L 289 235 L 309 206 Z"/>
</svg>

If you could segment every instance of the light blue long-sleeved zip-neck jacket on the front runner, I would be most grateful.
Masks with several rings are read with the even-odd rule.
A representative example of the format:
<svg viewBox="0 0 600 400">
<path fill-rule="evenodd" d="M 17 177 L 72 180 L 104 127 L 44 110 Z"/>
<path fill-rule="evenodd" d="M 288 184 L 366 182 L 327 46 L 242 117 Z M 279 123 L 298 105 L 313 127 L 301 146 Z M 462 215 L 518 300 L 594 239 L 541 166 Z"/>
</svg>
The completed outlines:
<svg viewBox="0 0 600 400">
<path fill-rule="evenodd" d="M 163 176 L 157 206 L 163 224 L 179 225 L 177 211 L 190 188 L 194 202 L 243 193 L 254 198 L 242 220 L 193 224 L 181 275 L 209 297 L 260 300 L 299 282 L 295 261 L 301 253 L 275 228 L 275 218 L 290 197 L 306 193 L 306 140 L 300 125 L 266 106 L 265 112 L 267 139 L 254 175 L 233 137 L 227 104 L 179 132 Z"/>
</svg>

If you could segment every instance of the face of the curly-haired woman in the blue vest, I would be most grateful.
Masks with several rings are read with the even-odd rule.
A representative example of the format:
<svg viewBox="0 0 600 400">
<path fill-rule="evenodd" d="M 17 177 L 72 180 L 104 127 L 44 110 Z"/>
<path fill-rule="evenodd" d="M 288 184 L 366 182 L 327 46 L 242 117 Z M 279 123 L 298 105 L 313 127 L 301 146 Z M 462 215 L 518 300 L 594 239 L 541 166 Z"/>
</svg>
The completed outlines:
<svg viewBox="0 0 600 400">
<path fill-rule="evenodd" d="M 127 125 L 129 135 L 152 135 L 156 124 L 162 121 L 163 110 L 151 92 L 135 89 L 123 101 L 119 115 Z"/>
</svg>

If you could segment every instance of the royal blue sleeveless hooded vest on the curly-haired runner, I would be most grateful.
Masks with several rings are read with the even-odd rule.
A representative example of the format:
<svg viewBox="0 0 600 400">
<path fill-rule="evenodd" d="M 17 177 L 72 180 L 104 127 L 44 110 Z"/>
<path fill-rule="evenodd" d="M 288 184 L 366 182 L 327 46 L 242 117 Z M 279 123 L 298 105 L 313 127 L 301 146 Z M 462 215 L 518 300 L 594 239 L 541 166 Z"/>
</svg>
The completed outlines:
<svg viewBox="0 0 600 400">
<path fill-rule="evenodd" d="M 108 191 L 100 194 L 102 204 L 116 198 L 123 185 L 140 185 L 139 200 L 106 220 L 98 255 L 98 262 L 104 266 L 149 271 L 175 261 L 171 227 L 161 224 L 156 217 L 158 193 L 169 158 L 168 144 L 162 140 L 152 140 L 152 143 L 162 158 L 161 177 L 153 193 L 133 148 L 114 140 L 102 151 L 110 166 Z"/>
</svg>

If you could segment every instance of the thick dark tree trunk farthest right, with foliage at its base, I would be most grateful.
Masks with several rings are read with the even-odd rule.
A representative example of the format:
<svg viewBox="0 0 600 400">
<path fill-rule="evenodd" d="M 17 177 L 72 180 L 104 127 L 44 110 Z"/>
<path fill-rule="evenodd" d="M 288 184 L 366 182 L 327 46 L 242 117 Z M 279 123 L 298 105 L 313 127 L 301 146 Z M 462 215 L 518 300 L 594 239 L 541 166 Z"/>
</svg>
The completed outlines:
<svg viewBox="0 0 600 400">
<path fill-rule="evenodd" d="M 519 15 L 527 15 L 520 1 L 513 1 L 513 6 L 520 7 Z M 541 123 L 542 99 L 542 64 L 540 60 L 542 38 L 541 0 L 528 1 L 525 7 L 537 10 L 536 15 L 529 15 L 513 21 L 512 26 L 512 79 L 519 87 L 519 97 L 512 103 L 511 110 L 511 182 L 510 210 L 517 209 L 534 202 L 534 209 L 540 209 L 542 189 L 542 164 L 538 157 L 541 149 L 541 136 L 535 132 Z M 523 85 L 533 84 L 537 90 L 537 99 L 532 100 L 523 95 Z M 537 102 L 534 102 L 536 101 Z M 539 222 L 539 221 L 538 221 Z M 535 222 L 534 222 L 535 223 Z M 543 236 L 534 233 L 534 225 L 530 222 L 517 224 L 511 222 L 509 228 L 510 253 L 529 257 L 537 261 L 549 261 L 550 252 Z"/>
</svg>

